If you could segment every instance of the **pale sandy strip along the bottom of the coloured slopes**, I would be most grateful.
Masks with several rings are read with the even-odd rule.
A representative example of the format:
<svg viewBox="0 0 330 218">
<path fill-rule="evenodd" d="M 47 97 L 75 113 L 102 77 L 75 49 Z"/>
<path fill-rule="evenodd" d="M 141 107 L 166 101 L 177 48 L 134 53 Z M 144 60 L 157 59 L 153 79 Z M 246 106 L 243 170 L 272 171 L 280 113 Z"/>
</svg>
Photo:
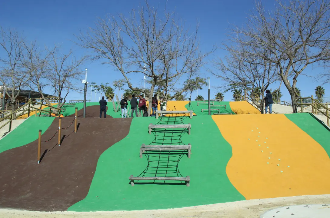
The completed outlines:
<svg viewBox="0 0 330 218">
<path fill-rule="evenodd" d="M 0 217 L 6 218 L 259 218 L 268 210 L 290 205 L 330 204 L 330 195 L 295 196 L 273 199 L 256 199 L 239 202 L 217 203 L 196 207 L 168 210 L 138 210 L 110 212 L 35 212 L 0 209 Z"/>
</svg>

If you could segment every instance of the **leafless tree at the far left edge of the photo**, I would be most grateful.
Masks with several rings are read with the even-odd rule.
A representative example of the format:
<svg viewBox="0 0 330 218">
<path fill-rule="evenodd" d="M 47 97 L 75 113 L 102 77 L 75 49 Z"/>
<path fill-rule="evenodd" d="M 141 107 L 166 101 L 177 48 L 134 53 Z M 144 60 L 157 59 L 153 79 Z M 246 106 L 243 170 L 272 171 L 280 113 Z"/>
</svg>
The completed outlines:
<svg viewBox="0 0 330 218">
<path fill-rule="evenodd" d="M 22 65 L 24 55 L 24 38 L 16 30 L 4 30 L 0 27 L 0 81 L 6 86 L 6 94 L 12 104 L 12 111 L 16 110 L 16 99 L 21 88 L 30 79 L 30 72 Z M 13 114 L 16 118 L 16 114 Z"/>
</svg>

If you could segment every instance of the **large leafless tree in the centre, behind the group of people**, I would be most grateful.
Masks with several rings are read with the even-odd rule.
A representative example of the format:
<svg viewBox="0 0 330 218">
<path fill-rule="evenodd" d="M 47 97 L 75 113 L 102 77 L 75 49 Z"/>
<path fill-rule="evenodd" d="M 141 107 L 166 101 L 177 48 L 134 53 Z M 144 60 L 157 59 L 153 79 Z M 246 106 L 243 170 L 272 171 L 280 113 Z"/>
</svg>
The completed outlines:
<svg viewBox="0 0 330 218">
<path fill-rule="evenodd" d="M 190 33 L 174 13 L 159 16 L 146 2 L 145 7 L 133 9 L 129 17 L 119 14 L 99 18 L 94 28 L 77 36 L 77 44 L 94 51 L 92 60 L 102 59 L 103 64 L 114 66 L 131 90 L 152 96 L 154 89 L 160 88 L 169 100 L 185 91 L 180 81 L 196 76 L 208 54 L 199 51 L 197 32 L 198 25 Z M 131 79 L 136 81 L 137 74 L 146 76 L 148 89 L 133 86 Z M 175 94 L 170 96 L 170 92 Z M 149 98 L 149 106 L 151 101 Z"/>
</svg>

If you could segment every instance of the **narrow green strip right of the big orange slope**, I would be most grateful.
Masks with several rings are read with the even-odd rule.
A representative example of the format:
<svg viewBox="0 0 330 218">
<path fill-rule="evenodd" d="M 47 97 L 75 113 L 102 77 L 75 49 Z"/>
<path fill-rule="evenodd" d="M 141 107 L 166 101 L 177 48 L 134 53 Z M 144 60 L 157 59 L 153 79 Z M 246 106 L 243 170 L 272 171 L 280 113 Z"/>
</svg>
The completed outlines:
<svg viewBox="0 0 330 218">
<path fill-rule="evenodd" d="M 285 116 L 317 141 L 330 157 L 330 131 L 317 121 L 312 114 L 293 113 L 285 114 Z"/>
</svg>

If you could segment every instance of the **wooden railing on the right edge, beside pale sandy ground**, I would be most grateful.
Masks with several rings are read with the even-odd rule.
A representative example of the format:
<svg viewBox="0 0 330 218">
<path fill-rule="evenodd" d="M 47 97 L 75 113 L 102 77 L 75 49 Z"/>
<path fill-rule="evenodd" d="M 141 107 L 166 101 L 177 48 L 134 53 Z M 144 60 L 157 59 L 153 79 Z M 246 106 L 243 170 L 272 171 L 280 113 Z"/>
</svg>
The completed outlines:
<svg viewBox="0 0 330 218">
<path fill-rule="evenodd" d="M 327 118 L 327 125 L 330 127 L 330 109 L 328 108 L 328 104 L 320 103 L 316 99 L 314 99 L 313 95 L 311 97 L 306 98 L 298 98 L 297 99 L 297 107 L 300 107 L 300 112 L 304 112 L 309 107 L 312 107 L 312 113 L 317 114 L 317 111 Z M 322 111 L 324 109 L 325 111 Z"/>
</svg>

